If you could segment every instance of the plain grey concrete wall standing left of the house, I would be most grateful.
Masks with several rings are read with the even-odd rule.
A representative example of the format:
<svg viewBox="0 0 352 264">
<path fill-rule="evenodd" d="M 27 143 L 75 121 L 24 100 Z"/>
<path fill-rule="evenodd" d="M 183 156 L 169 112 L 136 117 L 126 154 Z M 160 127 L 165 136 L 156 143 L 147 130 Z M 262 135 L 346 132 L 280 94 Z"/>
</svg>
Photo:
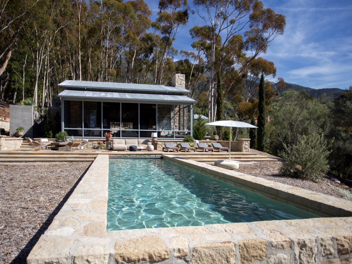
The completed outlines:
<svg viewBox="0 0 352 264">
<path fill-rule="evenodd" d="M 10 105 L 10 136 L 16 133 L 16 128 L 24 127 L 23 137 L 33 137 L 33 106 Z"/>
</svg>

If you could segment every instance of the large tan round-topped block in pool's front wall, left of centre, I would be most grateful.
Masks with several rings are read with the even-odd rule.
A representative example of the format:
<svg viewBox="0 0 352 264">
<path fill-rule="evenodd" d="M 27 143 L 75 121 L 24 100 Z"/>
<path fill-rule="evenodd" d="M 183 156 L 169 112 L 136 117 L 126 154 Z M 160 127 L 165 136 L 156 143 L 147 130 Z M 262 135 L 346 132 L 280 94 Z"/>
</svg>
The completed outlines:
<svg viewBox="0 0 352 264">
<path fill-rule="evenodd" d="M 158 262 L 170 258 L 170 250 L 156 235 L 118 241 L 114 246 L 116 262 Z"/>
</svg>

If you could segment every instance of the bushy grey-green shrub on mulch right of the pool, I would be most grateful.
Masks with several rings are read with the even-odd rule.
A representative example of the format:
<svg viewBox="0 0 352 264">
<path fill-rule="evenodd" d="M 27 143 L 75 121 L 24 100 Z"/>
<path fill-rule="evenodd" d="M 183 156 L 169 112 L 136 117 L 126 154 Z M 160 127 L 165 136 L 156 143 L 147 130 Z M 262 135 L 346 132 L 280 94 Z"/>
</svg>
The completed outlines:
<svg viewBox="0 0 352 264">
<path fill-rule="evenodd" d="M 281 176 L 301 178 L 317 182 L 321 174 L 329 169 L 327 157 L 330 153 L 323 134 L 313 133 L 309 136 L 300 136 L 296 144 L 284 145 L 279 154 L 286 159 L 280 168 Z"/>
</svg>

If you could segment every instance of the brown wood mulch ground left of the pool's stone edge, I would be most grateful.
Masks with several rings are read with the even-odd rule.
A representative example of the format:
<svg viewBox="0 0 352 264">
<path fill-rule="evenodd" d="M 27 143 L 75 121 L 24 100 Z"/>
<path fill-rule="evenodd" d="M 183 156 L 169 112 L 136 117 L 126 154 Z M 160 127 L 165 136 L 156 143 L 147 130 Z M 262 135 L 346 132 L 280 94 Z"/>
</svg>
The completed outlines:
<svg viewBox="0 0 352 264">
<path fill-rule="evenodd" d="M 26 263 L 90 164 L 0 164 L 0 263 Z"/>
</svg>

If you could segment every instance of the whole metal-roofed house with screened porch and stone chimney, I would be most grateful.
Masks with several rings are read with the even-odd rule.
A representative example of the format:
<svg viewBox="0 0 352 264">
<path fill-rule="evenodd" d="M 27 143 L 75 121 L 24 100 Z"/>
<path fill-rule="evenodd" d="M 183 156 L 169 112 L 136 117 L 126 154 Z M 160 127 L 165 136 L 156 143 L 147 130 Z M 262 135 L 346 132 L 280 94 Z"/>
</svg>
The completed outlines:
<svg viewBox="0 0 352 264">
<path fill-rule="evenodd" d="M 62 92 L 62 131 L 69 136 L 102 138 L 180 138 L 192 134 L 193 105 L 183 74 L 172 86 L 66 80 Z"/>
</svg>

